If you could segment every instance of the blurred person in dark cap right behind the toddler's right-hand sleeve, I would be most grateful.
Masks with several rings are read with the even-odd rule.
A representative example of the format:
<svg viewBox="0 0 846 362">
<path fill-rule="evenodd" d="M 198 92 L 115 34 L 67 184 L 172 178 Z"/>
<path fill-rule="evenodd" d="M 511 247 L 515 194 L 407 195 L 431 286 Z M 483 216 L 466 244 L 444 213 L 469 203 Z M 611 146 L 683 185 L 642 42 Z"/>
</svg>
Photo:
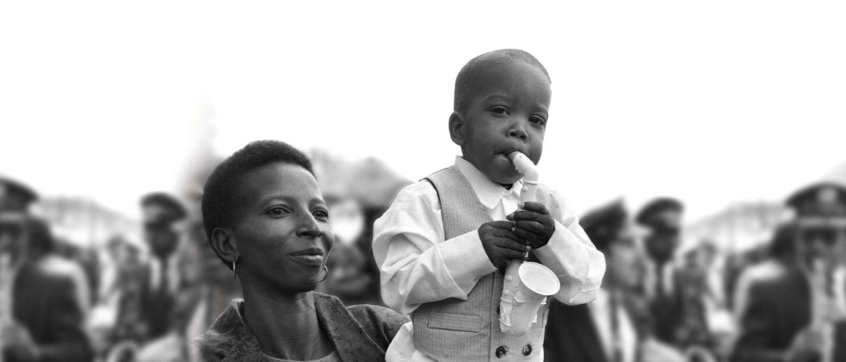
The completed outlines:
<svg viewBox="0 0 846 362">
<path fill-rule="evenodd" d="M 550 300 L 544 359 L 547 361 L 684 361 L 684 355 L 652 336 L 653 322 L 638 293 L 645 255 L 622 201 L 589 211 L 580 225 L 606 258 L 596 299 L 581 305 Z"/>
</svg>

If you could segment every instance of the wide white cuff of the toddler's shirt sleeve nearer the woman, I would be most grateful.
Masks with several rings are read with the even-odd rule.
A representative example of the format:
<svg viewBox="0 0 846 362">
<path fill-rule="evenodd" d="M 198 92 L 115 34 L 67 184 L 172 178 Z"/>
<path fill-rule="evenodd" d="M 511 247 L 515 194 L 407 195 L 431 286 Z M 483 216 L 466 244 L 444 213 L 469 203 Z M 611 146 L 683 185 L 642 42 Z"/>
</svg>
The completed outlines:
<svg viewBox="0 0 846 362">
<path fill-rule="evenodd" d="M 497 271 L 481 246 L 479 231 L 473 230 L 436 245 L 453 282 L 470 293 L 481 277 Z"/>
</svg>

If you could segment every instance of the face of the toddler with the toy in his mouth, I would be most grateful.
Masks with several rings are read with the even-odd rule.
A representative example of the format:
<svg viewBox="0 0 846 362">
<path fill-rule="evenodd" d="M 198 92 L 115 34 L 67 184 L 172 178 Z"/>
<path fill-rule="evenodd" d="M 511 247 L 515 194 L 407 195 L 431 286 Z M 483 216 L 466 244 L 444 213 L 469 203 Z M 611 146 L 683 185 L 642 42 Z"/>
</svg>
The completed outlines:
<svg viewBox="0 0 846 362">
<path fill-rule="evenodd" d="M 498 184 L 522 178 L 508 158 L 520 151 L 541 160 L 551 91 L 541 69 L 513 61 L 487 69 L 462 114 L 464 159 Z"/>
</svg>

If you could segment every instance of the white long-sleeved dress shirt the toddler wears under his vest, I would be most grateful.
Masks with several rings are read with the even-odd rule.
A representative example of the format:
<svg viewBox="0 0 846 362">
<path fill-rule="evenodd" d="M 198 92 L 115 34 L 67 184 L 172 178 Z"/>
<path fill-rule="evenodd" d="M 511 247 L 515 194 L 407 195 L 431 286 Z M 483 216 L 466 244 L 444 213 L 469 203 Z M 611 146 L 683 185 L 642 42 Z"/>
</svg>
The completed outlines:
<svg viewBox="0 0 846 362">
<path fill-rule="evenodd" d="M 492 220 L 505 220 L 517 210 L 522 182 L 505 189 L 460 156 L 454 165 Z M 553 197 L 561 206 L 563 223 L 556 221 L 549 243 L 534 252 L 558 275 L 561 290 L 555 298 L 565 304 L 584 304 L 596 297 L 605 274 L 605 258 L 579 226 L 569 204 L 557 193 Z M 401 190 L 376 220 L 373 255 L 382 275 L 382 299 L 403 314 L 428 302 L 467 299 L 481 277 L 497 271 L 482 247 L 478 230 L 444 240 L 441 204 L 426 180 Z M 403 326 L 388 348 L 389 357 L 427 360 L 415 351 L 412 331 L 411 322 Z"/>
</svg>

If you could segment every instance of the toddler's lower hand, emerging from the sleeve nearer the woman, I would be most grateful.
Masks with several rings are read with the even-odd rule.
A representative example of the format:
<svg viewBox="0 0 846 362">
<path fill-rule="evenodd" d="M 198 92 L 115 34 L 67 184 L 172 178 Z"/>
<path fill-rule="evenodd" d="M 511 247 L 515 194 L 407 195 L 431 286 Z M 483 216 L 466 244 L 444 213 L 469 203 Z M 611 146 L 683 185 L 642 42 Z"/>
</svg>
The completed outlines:
<svg viewBox="0 0 846 362">
<path fill-rule="evenodd" d="M 479 227 L 481 246 L 485 248 L 487 258 L 493 266 L 501 268 L 507 261 L 520 259 L 523 253 L 529 251 L 529 245 L 519 241 L 521 238 L 511 229 L 514 222 L 498 221 L 486 222 Z"/>
</svg>

